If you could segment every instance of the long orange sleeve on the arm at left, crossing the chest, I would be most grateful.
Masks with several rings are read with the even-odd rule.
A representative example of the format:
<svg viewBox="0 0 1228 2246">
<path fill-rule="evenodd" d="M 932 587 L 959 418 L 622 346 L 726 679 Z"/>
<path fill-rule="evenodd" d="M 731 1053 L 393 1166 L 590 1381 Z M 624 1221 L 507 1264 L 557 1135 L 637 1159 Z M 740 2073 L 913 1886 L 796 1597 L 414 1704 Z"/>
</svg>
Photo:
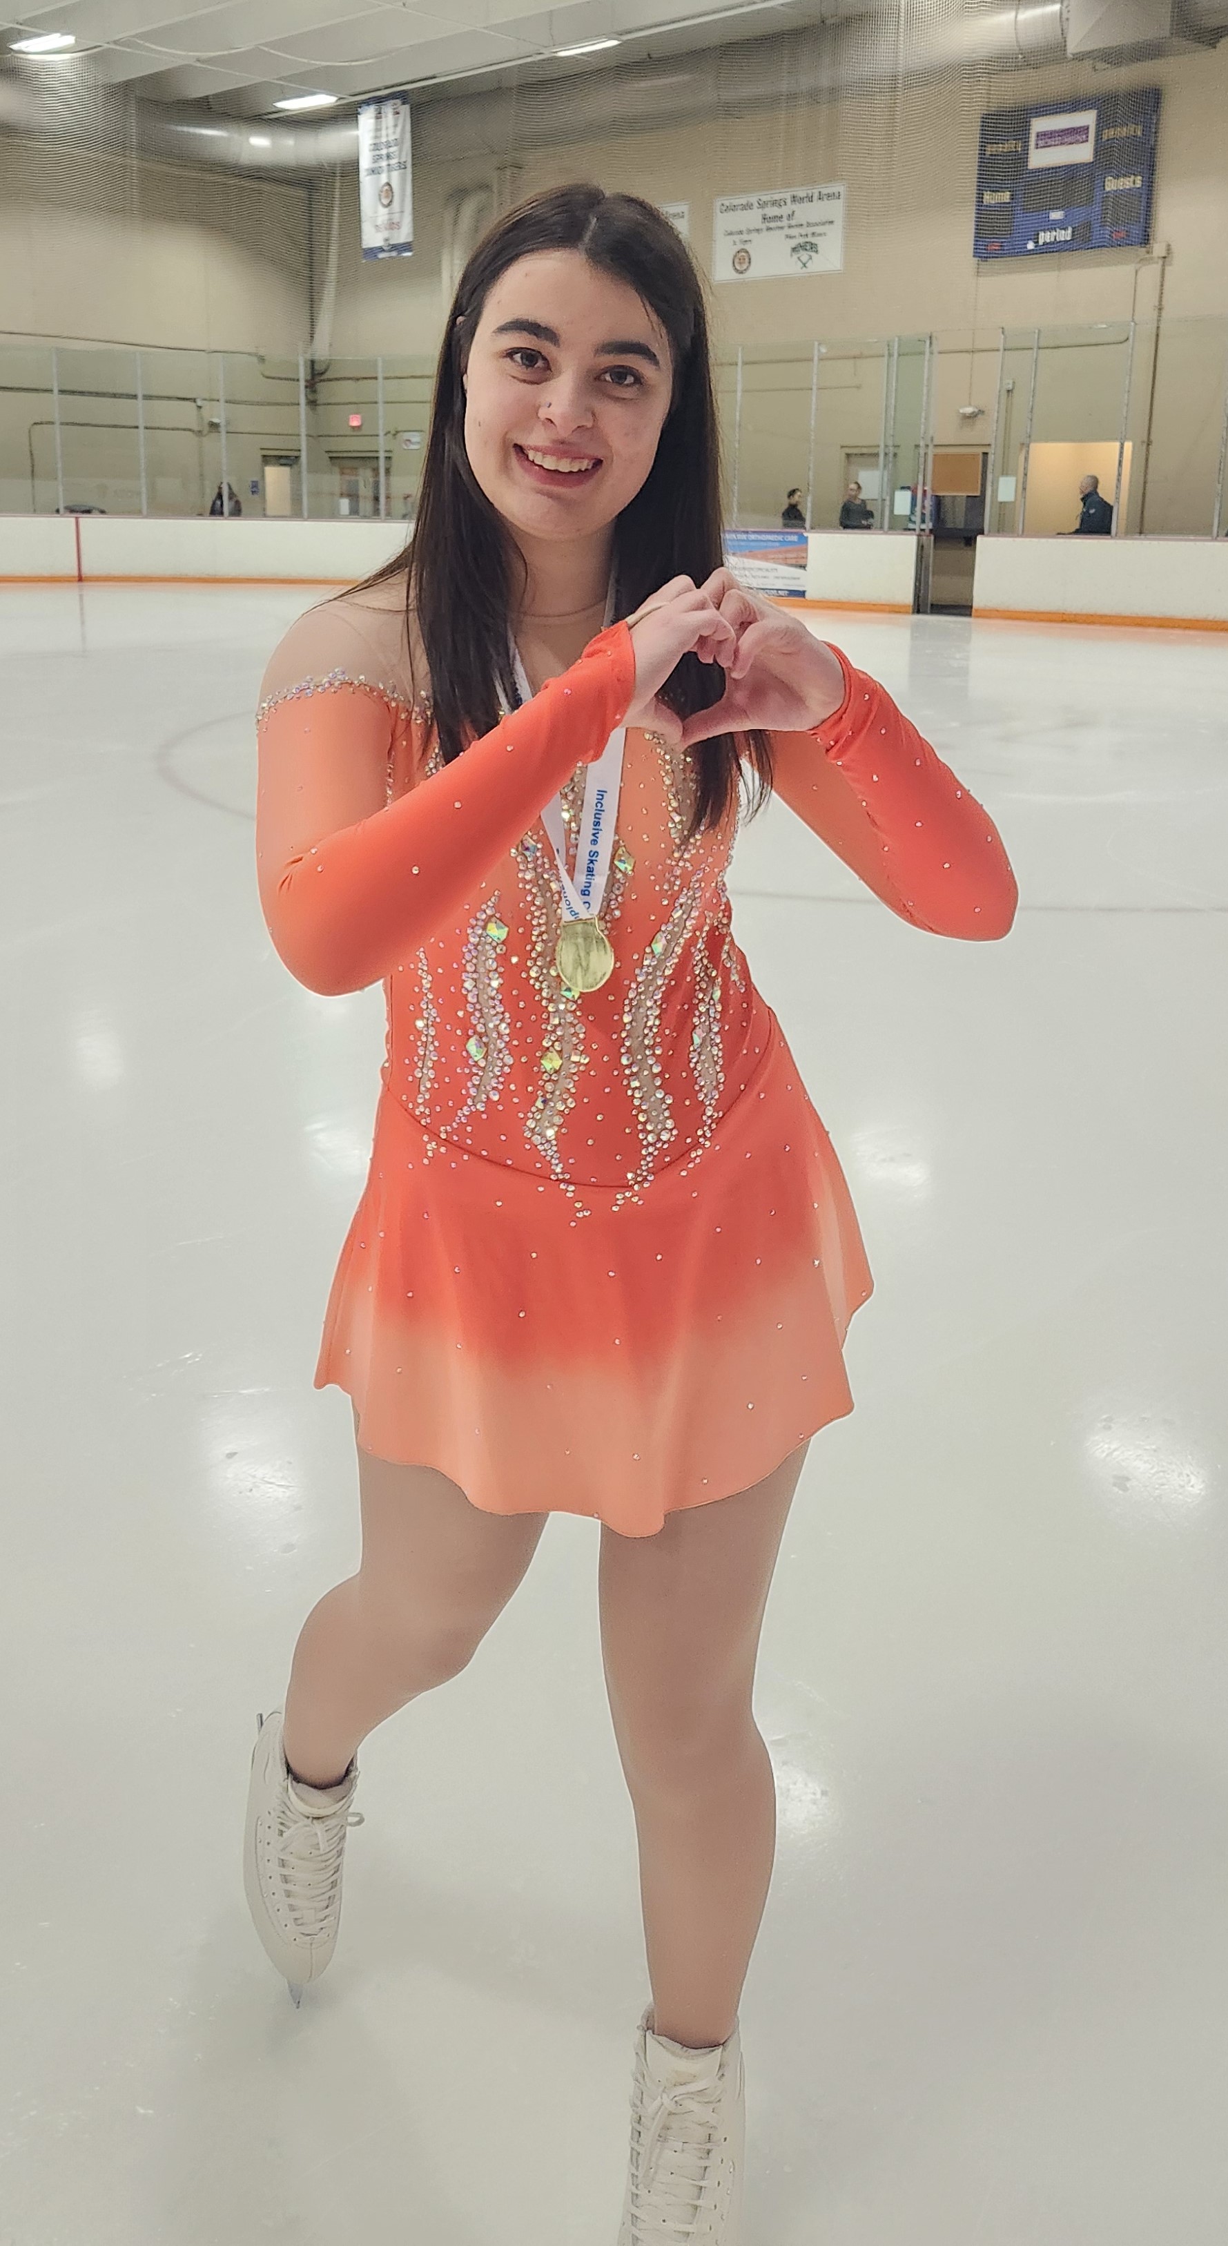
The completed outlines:
<svg viewBox="0 0 1228 2246">
<path fill-rule="evenodd" d="M 305 654 L 308 642 L 299 663 Z M 575 766 L 602 752 L 635 683 L 631 633 L 611 624 L 494 732 L 386 802 L 393 732 L 409 712 L 379 667 L 350 676 L 332 654 L 290 683 L 294 660 L 278 651 L 256 800 L 269 934 L 290 973 L 321 993 L 379 982 L 447 925 Z"/>
</svg>

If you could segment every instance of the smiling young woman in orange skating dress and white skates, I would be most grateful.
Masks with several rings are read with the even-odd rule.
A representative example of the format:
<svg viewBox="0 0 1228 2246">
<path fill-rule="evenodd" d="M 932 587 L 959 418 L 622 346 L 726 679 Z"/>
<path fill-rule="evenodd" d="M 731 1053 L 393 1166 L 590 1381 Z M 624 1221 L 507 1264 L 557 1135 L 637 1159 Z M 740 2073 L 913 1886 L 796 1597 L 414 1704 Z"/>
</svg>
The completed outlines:
<svg viewBox="0 0 1228 2246">
<path fill-rule="evenodd" d="M 317 1368 L 361 1568 L 258 1734 L 256 1929 L 323 1972 L 361 1738 L 465 1667 L 550 1512 L 597 1518 L 651 1979 L 620 2246 L 736 2246 L 759 1626 L 871 1291 L 730 932 L 741 773 L 916 928 L 1006 934 L 1010 867 L 882 687 L 723 570 L 700 281 L 597 186 L 474 252 L 411 546 L 290 629 L 258 723 L 274 943 L 312 990 L 382 979 L 388 1044 Z"/>
</svg>

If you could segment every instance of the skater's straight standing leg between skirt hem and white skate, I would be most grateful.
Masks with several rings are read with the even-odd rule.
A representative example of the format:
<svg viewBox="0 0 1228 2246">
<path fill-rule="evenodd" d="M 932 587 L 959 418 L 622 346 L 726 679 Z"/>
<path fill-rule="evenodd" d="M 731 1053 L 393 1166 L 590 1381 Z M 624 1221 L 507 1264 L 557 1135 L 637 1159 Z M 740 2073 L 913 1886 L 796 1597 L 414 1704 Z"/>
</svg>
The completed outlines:
<svg viewBox="0 0 1228 2246">
<path fill-rule="evenodd" d="M 750 1711 L 759 1628 L 806 1444 L 658 1536 L 602 1532 L 602 1649 L 640 1837 L 653 2028 L 734 2030 L 768 1900 L 777 1797 Z"/>
</svg>

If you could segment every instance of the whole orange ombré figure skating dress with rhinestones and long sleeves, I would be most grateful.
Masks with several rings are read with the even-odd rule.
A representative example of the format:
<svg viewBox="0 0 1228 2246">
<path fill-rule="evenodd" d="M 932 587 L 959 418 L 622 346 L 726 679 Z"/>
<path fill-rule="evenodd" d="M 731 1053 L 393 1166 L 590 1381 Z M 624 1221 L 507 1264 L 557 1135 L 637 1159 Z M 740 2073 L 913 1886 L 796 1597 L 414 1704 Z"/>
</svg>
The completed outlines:
<svg viewBox="0 0 1228 2246">
<path fill-rule="evenodd" d="M 775 737 L 775 788 L 893 912 L 1001 937 L 1015 880 L 972 795 L 871 678 Z M 631 701 L 626 624 L 442 764 L 384 582 L 283 638 L 258 712 L 265 919 L 312 990 L 382 979 L 370 1175 L 317 1388 L 359 1442 L 494 1514 L 651 1536 L 853 1408 L 871 1294 L 853 1204 L 730 928 L 734 820 L 689 838 L 691 752 L 629 730 L 604 988 L 555 968 L 584 768 Z"/>
</svg>

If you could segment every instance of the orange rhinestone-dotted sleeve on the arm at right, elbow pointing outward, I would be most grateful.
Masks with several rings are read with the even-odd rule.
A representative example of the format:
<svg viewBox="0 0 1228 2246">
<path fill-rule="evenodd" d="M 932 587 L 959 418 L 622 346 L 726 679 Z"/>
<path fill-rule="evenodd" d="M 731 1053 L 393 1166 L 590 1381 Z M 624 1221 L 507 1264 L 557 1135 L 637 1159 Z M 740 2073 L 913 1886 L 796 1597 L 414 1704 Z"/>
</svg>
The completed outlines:
<svg viewBox="0 0 1228 2246">
<path fill-rule="evenodd" d="M 891 696 L 835 647 L 846 694 L 772 734 L 775 793 L 891 912 L 936 937 L 1006 937 L 1019 892 L 1001 836 Z"/>
</svg>

